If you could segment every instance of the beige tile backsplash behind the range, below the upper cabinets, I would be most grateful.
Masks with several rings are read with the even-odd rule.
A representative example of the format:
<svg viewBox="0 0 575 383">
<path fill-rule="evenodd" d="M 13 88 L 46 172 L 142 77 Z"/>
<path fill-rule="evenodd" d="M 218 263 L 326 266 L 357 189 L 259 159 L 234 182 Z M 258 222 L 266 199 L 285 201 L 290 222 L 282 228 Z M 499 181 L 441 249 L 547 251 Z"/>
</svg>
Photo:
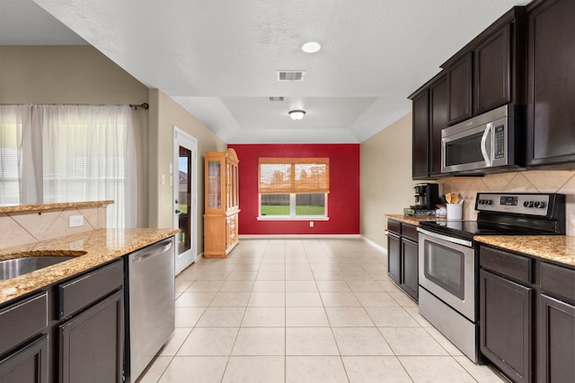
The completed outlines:
<svg viewBox="0 0 575 383">
<path fill-rule="evenodd" d="M 484 177 L 454 177 L 438 180 L 440 193 L 464 198 L 464 220 L 475 220 L 477 192 L 560 193 L 565 195 L 567 235 L 575 236 L 575 170 L 530 170 L 490 174 Z"/>
</svg>

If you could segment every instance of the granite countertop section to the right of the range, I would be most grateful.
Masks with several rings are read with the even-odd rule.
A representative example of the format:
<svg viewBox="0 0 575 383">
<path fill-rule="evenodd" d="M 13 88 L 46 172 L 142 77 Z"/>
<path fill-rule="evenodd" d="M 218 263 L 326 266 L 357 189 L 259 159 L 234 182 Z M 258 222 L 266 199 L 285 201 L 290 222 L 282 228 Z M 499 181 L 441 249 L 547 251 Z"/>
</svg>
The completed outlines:
<svg viewBox="0 0 575 383">
<path fill-rule="evenodd" d="M 575 266 L 575 237 L 565 235 L 480 235 L 478 242 Z"/>
</svg>

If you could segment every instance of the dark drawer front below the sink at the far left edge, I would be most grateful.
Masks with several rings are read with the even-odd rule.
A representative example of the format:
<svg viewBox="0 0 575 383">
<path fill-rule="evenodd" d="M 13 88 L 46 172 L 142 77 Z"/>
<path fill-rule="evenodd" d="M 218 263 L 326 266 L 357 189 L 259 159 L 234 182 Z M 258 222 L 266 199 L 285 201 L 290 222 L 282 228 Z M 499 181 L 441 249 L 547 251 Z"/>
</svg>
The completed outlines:
<svg viewBox="0 0 575 383">
<path fill-rule="evenodd" d="M 48 327 L 48 294 L 40 292 L 0 310 L 0 354 Z"/>
</svg>

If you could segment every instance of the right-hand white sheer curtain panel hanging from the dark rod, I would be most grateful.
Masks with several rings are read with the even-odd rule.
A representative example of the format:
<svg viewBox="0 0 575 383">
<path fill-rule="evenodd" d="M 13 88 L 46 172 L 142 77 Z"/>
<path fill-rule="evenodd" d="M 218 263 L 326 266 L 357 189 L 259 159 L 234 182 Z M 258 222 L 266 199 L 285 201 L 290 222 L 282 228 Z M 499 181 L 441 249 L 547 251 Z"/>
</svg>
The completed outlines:
<svg viewBox="0 0 575 383">
<path fill-rule="evenodd" d="M 113 200 L 109 228 L 136 226 L 136 150 L 126 106 L 32 107 L 41 126 L 44 203 Z"/>
</svg>

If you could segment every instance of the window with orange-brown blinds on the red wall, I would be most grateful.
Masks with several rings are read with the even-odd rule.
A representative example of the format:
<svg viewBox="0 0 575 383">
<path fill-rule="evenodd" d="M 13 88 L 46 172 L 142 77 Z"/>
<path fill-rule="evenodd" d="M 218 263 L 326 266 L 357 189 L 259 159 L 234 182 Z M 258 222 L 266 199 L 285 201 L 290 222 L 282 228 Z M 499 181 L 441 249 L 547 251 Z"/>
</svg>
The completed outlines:
<svg viewBox="0 0 575 383">
<path fill-rule="evenodd" d="M 260 218 L 327 217 L 329 158 L 260 158 Z"/>
</svg>

